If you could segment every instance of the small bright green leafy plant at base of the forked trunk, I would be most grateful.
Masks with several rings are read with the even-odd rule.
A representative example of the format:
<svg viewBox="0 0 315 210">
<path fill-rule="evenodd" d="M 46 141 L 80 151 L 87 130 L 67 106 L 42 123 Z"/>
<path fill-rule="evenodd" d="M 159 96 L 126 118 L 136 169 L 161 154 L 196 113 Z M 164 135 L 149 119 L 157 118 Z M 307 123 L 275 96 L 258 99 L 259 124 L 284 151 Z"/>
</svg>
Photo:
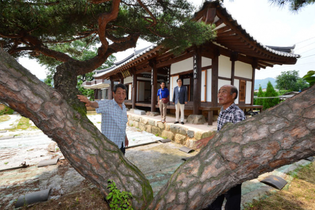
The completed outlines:
<svg viewBox="0 0 315 210">
<path fill-rule="evenodd" d="M 130 192 L 120 191 L 117 189 L 116 183 L 108 179 L 108 186 L 110 193 L 106 196 L 109 202 L 109 207 L 111 210 L 133 210 L 130 200 L 132 199 L 132 194 Z"/>
</svg>

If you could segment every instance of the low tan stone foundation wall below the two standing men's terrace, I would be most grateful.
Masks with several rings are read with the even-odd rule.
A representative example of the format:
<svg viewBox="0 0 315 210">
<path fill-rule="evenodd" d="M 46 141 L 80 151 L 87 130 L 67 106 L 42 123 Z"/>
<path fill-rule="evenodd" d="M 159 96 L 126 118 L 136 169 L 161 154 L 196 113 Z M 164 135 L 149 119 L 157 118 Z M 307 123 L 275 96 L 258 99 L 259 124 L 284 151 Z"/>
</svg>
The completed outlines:
<svg viewBox="0 0 315 210">
<path fill-rule="evenodd" d="M 194 128 L 188 129 L 181 125 L 161 123 L 156 119 L 133 113 L 128 113 L 127 124 L 156 136 L 173 140 L 189 148 L 195 148 L 197 140 L 209 137 L 216 132 L 215 128 L 210 131 L 202 131 Z"/>
</svg>

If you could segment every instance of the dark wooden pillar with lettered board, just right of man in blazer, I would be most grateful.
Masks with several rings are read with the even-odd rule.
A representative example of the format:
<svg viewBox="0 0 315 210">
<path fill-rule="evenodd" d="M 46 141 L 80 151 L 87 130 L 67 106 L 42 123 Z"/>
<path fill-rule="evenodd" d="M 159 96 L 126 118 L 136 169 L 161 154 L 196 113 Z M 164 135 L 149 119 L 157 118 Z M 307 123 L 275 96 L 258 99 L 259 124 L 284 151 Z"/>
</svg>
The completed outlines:
<svg viewBox="0 0 315 210">
<path fill-rule="evenodd" d="M 197 50 L 193 56 L 193 110 L 192 114 L 199 114 L 201 100 L 201 54 Z"/>
</svg>

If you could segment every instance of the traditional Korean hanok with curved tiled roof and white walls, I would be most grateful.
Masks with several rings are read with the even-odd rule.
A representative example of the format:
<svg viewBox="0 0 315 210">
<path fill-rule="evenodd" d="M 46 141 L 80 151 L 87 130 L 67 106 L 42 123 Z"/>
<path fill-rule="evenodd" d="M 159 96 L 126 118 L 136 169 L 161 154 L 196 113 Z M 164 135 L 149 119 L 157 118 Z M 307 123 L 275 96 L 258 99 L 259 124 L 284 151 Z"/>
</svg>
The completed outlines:
<svg viewBox="0 0 315 210">
<path fill-rule="evenodd" d="M 218 89 L 225 84 L 238 88 L 235 101 L 242 109 L 253 105 L 255 70 L 274 65 L 295 64 L 299 55 L 292 47 L 265 46 L 252 37 L 226 10 L 221 0 L 204 0 L 194 14 L 195 21 L 215 24 L 217 38 L 198 47 L 190 47 L 174 55 L 160 45 L 142 49 L 112 69 L 98 71 L 95 79 L 124 83 L 127 88 L 125 104 L 132 108 L 150 107 L 156 111 L 159 82 L 165 81 L 172 99 L 176 80 L 182 78 L 189 102 L 185 115 L 203 114 L 212 125 L 213 114 L 220 109 Z M 167 106 L 170 111 L 175 106 Z M 261 108 L 261 106 L 258 106 Z"/>
</svg>

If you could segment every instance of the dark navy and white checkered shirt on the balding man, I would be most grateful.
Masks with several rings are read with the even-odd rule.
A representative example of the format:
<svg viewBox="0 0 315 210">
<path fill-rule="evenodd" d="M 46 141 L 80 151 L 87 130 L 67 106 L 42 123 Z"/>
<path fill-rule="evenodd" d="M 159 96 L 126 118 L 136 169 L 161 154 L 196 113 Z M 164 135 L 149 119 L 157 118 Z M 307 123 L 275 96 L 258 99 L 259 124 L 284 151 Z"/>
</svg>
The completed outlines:
<svg viewBox="0 0 315 210">
<path fill-rule="evenodd" d="M 227 122 L 238 123 L 242 120 L 245 120 L 246 116 L 242 109 L 240 109 L 234 103 L 230 105 L 225 110 L 221 107 L 221 112 L 218 117 L 218 132 L 221 130 L 223 125 Z"/>
</svg>

